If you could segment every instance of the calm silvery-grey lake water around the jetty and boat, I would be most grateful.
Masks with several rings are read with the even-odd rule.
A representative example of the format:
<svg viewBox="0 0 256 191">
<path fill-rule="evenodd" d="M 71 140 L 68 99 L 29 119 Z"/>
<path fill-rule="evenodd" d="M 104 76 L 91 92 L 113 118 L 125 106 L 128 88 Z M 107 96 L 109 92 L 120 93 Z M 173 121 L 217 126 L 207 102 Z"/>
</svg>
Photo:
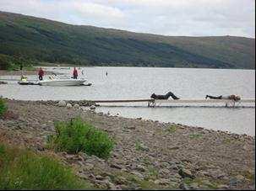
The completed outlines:
<svg viewBox="0 0 256 191">
<path fill-rule="evenodd" d="M 255 97 L 254 70 L 145 68 L 145 67 L 86 67 L 84 77 L 90 87 L 19 86 L 9 81 L 0 86 L 0 94 L 7 98 L 23 100 L 49 99 L 114 99 L 150 98 L 151 93 L 172 91 L 180 98 L 204 98 L 206 94 L 238 94 L 242 98 Z M 71 69 L 48 68 L 71 74 Z M 106 76 L 107 72 L 107 76 Z M 29 80 L 36 76 L 28 76 Z M 1 77 L 18 79 L 19 77 Z M 226 130 L 239 134 L 255 135 L 255 108 L 216 107 L 159 107 L 147 108 L 147 103 L 107 104 L 96 111 L 120 114 L 124 117 L 142 117 L 164 122 L 201 126 L 213 130 Z M 119 107 L 119 106 L 120 107 Z M 139 107 L 133 107 L 133 106 Z M 255 106 L 253 104 L 253 106 Z"/>
</svg>

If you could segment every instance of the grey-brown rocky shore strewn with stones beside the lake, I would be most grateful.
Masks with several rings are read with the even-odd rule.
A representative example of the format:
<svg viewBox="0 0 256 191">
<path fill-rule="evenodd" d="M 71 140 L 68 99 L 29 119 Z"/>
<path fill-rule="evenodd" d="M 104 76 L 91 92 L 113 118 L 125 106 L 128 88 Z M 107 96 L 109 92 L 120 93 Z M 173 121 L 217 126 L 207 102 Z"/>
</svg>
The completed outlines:
<svg viewBox="0 0 256 191">
<path fill-rule="evenodd" d="M 255 137 L 95 113 L 81 103 L 7 100 L 0 141 L 56 155 L 103 189 L 255 189 Z M 88 104 L 89 105 L 89 104 Z M 80 116 L 115 140 L 112 157 L 46 149 L 54 121 Z"/>
</svg>

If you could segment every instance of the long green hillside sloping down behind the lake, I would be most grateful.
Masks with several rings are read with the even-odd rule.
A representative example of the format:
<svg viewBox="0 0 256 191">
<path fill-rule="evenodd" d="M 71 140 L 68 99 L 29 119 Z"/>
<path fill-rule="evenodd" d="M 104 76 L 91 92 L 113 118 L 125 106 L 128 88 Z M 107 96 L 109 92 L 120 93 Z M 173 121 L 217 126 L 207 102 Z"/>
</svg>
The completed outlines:
<svg viewBox="0 0 256 191">
<path fill-rule="evenodd" d="M 0 54 L 84 66 L 255 68 L 255 39 L 172 37 L 0 12 Z"/>
</svg>

